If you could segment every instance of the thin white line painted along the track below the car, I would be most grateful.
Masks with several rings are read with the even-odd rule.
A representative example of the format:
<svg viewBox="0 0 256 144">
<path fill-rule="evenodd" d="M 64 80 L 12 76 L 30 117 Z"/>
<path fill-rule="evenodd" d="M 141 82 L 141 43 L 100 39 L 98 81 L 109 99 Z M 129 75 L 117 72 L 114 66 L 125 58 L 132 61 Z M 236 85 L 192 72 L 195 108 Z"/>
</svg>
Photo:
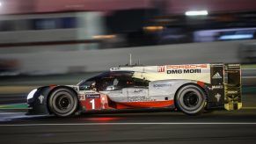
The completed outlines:
<svg viewBox="0 0 256 144">
<path fill-rule="evenodd" d="M 185 122 L 185 123 L 166 123 L 166 122 L 149 122 L 149 123 L 69 123 L 69 124 L 13 124 L 0 126 L 103 126 L 103 125 L 256 125 L 256 122 Z"/>
</svg>

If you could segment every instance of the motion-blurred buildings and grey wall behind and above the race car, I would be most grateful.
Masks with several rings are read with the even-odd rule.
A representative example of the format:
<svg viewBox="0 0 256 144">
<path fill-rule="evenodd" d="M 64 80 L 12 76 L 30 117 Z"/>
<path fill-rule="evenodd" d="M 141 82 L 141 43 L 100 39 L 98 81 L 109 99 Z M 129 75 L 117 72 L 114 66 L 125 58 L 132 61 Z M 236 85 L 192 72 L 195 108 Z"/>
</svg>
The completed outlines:
<svg viewBox="0 0 256 144">
<path fill-rule="evenodd" d="M 254 76 L 256 2 L 0 0 L 2 86 L 78 83 L 129 54 L 143 65 L 239 62 Z"/>
</svg>

